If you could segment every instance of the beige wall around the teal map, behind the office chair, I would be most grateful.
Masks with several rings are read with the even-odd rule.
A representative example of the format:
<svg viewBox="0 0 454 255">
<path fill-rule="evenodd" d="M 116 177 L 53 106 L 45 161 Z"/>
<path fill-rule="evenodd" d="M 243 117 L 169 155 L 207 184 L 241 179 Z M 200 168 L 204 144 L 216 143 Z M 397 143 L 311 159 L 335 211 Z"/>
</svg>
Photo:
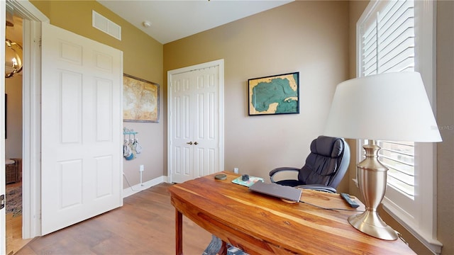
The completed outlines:
<svg viewBox="0 0 454 255">
<path fill-rule="evenodd" d="M 304 164 L 348 78 L 348 2 L 295 1 L 167 43 L 164 55 L 164 75 L 224 59 L 225 169 L 269 179 L 277 166 Z M 300 113 L 248 116 L 248 79 L 289 72 L 299 72 Z"/>
</svg>

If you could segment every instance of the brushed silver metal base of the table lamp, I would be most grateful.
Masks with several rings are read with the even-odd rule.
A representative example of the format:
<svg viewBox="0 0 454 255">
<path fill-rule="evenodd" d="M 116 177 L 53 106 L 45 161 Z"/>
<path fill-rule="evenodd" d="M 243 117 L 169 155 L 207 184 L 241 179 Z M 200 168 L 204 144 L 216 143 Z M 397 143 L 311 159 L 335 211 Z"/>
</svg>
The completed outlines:
<svg viewBox="0 0 454 255">
<path fill-rule="evenodd" d="M 382 203 L 387 185 L 387 167 L 378 160 L 380 147 L 364 145 L 366 158 L 358 164 L 358 185 L 365 200 L 365 212 L 348 217 L 350 225 L 372 237 L 396 240 L 397 232 L 389 227 L 378 215 L 377 208 Z"/>
</svg>

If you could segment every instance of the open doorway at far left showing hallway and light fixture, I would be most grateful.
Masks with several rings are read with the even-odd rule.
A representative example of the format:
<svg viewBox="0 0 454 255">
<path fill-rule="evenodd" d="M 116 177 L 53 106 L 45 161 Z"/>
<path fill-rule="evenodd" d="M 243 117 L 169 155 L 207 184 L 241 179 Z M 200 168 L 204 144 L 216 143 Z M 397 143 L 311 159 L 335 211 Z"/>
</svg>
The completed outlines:
<svg viewBox="0 0 454 255">
<path fill-rule="evenodd" d="M 5 32 L 6 254 L 14 254 L 29 239 L 22 239 L 23 19 L 9 8 Z"/>
</svg>

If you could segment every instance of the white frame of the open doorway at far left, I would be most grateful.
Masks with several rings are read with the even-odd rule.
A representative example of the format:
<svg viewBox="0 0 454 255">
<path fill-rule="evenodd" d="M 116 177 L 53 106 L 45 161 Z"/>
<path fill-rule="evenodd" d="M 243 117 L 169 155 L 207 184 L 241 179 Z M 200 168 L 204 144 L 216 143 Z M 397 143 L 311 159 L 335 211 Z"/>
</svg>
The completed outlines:
<svg viewBox="0 0 454 255">
<path fill-rule="evenodd" d="M 41 235 L 41 23 L 50 20 L 31 2 L 6 0 L 14 13 L 23 18 L 23 149 L 22 149 L 22 238 Z"/>
</svg>

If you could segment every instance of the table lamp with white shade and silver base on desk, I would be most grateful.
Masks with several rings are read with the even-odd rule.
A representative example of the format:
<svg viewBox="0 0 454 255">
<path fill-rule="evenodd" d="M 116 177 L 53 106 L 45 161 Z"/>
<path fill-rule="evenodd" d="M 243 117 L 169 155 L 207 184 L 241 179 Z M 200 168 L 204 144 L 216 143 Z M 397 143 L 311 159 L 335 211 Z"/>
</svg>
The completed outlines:
<svg viewBox="0 0 454 255">
<path fill-rule="evenodd" d="M 375 140 L 441 142 L 421 75 L 418 72 L 375 74 L 343 81 L 336 87 L 324 135 L 369 140 L 357 165 L 365 212 L 348 217 L 356 229 L 385 240 L 397 232 L 378 215 L 387 187 L 387 167 L 378 160 Z"/>
</svg>

